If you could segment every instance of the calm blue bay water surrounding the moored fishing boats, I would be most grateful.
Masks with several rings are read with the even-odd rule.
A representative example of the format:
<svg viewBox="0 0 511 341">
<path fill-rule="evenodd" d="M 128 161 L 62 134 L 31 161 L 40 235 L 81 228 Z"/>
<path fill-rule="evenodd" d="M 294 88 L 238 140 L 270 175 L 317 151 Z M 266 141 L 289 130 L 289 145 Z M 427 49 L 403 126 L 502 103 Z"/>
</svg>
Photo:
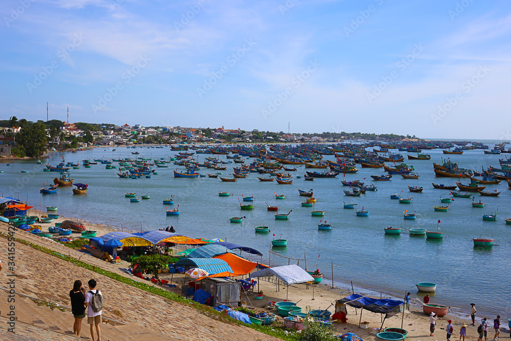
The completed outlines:
<svg viewBox="0 0 511 341">
<path fill-rule="evenodd" d="M 507 148 L 507 147 L 506 147 Z M 346 197 L 340 184 L 342 174 L 337 178 L 304 181 L 295 179 L 292 185 L 278 185 L 275 182 L 262 183 L 257 173 L 250 173 L 246 179 L 236 183 L 224 183 L 214 178 L 174 178 L 169 168 L 157 168 L 158 175 L 152 178 L 121 179 L 118 170 L 106 170 L 105 165 L 83 168 L 85 158 L 133 157 L 134 149 L 96 148 L 77 153 L 54 153 L 50 162 L 62 160 L 78 162 L 79 170 L 71 169 L 75 183 L 89 185 L 86 195 L 73 195 L 71 188 L 59 188 L 57 194 L 39 194 L 39 188 L 46 181 L 52 182 L 57 172 L 43 172 L 43 165 L 35 162 L 13 162 L 12 166 L 0 163 L 0 192 L 3 196 L 19 197 L 37 207 L 57 206 L 58 213 L 64 216 L 82 218 L 98 223 L 121 226 L 131 230 L 150 231 L 173 225 L 177 233 L 199 238 L 222 238 L 229 242 L 250 246 L 261 251 L 262 258 L 253 260 L 268 262 L 272 234 L 288 239 L 284 249 L 273 252 L 291 258 L 304 258 L 307 255 L 308 269 L 318 268 L 331 278 L 331 262 L 334 263 L 334 279 L 339 284 L 353 283 L 359 287 L 383 291 L 401 297 L 405 290 L 416 292 L 414 282 L 435 282 L 438 289 L 432 303 L 462 308 L 467 311 L 470 303 L 478 306 L 479 313 L 489 317 L 511 310 L 509 284 L 511 273 L 511 225 L 504 218 L 511 217 L 511 191 L 503 181 L 499 185 L 489 185 L 486 189 L 501 190 L 499 197 L 482 197 L 486 203 L 483 209 L 472 208 L 472 199 L 456 198 L 450 204 L 450 212 L 434 212 L 433 206 L 440 204 L 440 196 L 447 191 L 433 189 L 431 183 L 454 184 L 450 178 L 435 178 L 432 162 L 441 162 L 443 156 L 451 156 L 460 167 L 481 169 L 488 165 L 498 166 L 499 155 L 485 155 L 481 150 L 465 151 L 462 155 L 443 155 L 442 150 L 427 151 L 430 161 L 407 161 L 413 165 L 419 179 L 403 179 L 394 175 L 390 181 L 373 181 L 370 175 L 383 173 L 383 169 L 360 168 L 356 174 L 346 174 L 347 180 L 365 179 L 366 184 L 375 184 L 378 191 L 367 192 L 361 197 Z M 168 157 L 174 152 L 170 148 L 137 148 L 145 157 Z M 200 154 L 199 161 L 211 156 Z M 220 156 L 225 158 L 225 156 Z M 332 158 L 332 156 L 328 156 Z M 502 156 L 500 156 L 502 157 Z M 232 166 L 229 166 L 229 168 Z M 182 167 L 180 167 L 182 169 Z M 303 175 L 303 167 L 294 175 Z M 29 173 L 20 173 L 29 170 Z M 202 174 L 213 170 L 201 169 Z M 231 173 L 223 171 L 223 176 Z M 462 180 L 467 183 L 468 181 Z M 408 192 L 407 185 L 423 186 L 423 193 Z M 314 189 L 317 203 L 313 208 L 301 207 L 304 197 L 298 189 Z M 230 192 L 229 197 L 219 197 L 218 192 Z M 389 196 L 403 191 L 404 196 L 413 197 L 413 203 L 400 204 Z M 137 196 L 150 194 L 149 200 L 132 203 L 124 197 L 126 192 L 136 192 Z M 276 200 L 274 193 L 285 194 L 284 200 Z M 254 210 L 241 211 L 238 199 L 242 194 L 254 195 Z M 179 216 L 166 216 L 162 200 L 175 196 Z M 476 194 L 476 200 L 479 195 Z M 343 201 L 357 203 L 369 211 L 368 217 L 357 217 L 355 210 L 343 209 Z M 274 212 L 266 210 L 267 202 L 278 205 L 280 213 L 293 210 L 289 220 L 275 220 Z M 483 221 L 483 214 L 494 213 L 498 209 L 497 221 Z M 312 217 L 310 211 L 326 211 L 324 220 L 333 225 L 330 232 L 318 231 L 320 218 Z M 416 220 L 404 220 L 403 211 L 419 214 Z M 243 215 L 243 223 L 230 223 L 229 217 Z M 426 240 L 425 236 L 410 236 L 405 229 L 440 229 L 443 240 Z M 267 225 L 271 233 L 254 233 L 254 226 Z M 386 236 L 383 229 L 394 225 L 402 226 L 403 233 Z M 472 238 L 487 236 L 495 239 L 490 249 L 475 248 Z M 246 254 L 244 254 L 246 255 Z M 320 255 L 318 259 L 318 255 Z M 288 261 L 271 256 L 272 265 L 284 265 Z M 304 266 L 304 262 L 300 262 Z M 376 292 L 376 291 L 375 291 Z M 413 294 L 414 295 L 414 294 Z"/>
</svg>

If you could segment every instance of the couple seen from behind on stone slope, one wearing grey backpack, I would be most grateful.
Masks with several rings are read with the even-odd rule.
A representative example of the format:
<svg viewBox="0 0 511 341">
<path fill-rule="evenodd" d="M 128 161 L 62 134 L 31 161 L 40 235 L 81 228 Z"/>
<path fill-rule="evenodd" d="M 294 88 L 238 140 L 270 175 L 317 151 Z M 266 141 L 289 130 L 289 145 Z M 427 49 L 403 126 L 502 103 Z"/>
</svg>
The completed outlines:
<svg viewBox="0 0 511 341">
<path fill-rule="evenodd" d="M 82 329 L 82 319 L 85 317 L 85 308 L 87 308 L 87 324 L 90 325 L 90 336 L 92 341 L 101 341 L 101 313 L 103 309 L 103 294 L 96 289 L 96 280 L 91 279 L 87 282 L 89 291 L 85 292 L 82 287 L 82 281 L 76 280 L 73 289 L 69 291 L 71 298 L 71 312 L 75 317 L 73 325 L 73 333 L 80 336 Z M 94 337 L 94 332 L 98 334 L 98 338 Z"/>
</svg>

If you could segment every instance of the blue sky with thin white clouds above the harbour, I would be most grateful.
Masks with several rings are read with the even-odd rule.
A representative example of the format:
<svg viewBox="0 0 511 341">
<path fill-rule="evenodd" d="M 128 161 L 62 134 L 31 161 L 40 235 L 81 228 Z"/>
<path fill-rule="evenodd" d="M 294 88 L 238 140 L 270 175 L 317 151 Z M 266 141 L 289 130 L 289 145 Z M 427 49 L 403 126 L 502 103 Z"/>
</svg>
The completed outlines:
<svg viewBox="0 0 511 341">
<path fill-rule="evenodd" d="M 0 2 L 0 119 L 511 140 L 511 2 Z"/>
</svg>

